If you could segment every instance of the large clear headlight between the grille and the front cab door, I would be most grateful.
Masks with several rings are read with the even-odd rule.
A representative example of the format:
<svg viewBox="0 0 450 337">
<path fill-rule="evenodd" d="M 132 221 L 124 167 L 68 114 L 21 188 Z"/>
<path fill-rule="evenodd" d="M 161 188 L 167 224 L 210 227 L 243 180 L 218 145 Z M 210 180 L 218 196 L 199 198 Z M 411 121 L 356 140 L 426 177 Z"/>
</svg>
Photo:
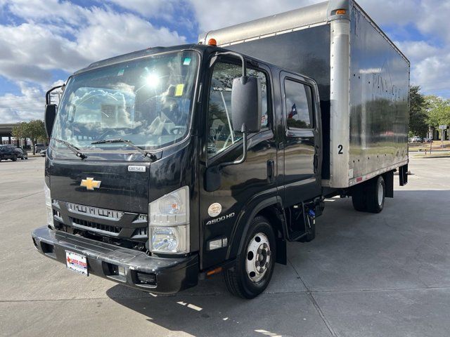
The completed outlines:
<svg viewBox="0 0 450 337">
<path fill-rule="evenodd" d="M 148 204 L 150 251 L 189 252 L 189 187 L 166 194 Z"/>
</svg>

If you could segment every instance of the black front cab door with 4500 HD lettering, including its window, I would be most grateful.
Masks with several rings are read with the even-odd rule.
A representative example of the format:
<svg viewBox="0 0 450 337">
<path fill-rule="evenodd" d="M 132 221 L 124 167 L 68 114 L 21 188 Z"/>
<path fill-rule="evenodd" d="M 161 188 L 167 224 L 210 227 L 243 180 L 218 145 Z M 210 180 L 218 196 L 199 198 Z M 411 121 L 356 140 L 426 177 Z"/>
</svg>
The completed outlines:
<svg viewBox="0 0 450 337">
<path fill-rule="evenodd" d="M 261 131 L 248 135 L 247 159 L 238 165 L 218 170 L 220 187 L 208 192 L 206 170 L 221 163 L 236 161 L 243 155 L 243 134 L 233 132 L 231 88 L 233 79 L 242 76 L 240 60 L 219 58 L 210 69 L 205 105 L 205 136 L 200 139 L 200 246 L 201 267 L 205 269 L 233 257 L 233 240 L 240 240 L 236 224 L 241 212 L 269 196 L 276 195 L 276 143 L 274 137 L 271 77 L 268 67 L 248 65 L 249 76 L 258 77 L 262 86 Z M 206 95 L 206 93 L 205 93 Z M 245 213 L 247 214 L 247 213 Z M 210 242 L 219 240 L 222 247 Z"/>
</svg>

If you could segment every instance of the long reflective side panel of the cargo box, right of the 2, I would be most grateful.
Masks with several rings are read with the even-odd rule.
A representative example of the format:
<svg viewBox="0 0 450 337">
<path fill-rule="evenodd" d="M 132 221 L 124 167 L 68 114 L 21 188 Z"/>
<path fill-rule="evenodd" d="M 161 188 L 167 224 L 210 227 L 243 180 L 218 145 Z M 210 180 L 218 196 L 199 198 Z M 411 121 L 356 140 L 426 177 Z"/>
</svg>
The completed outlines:
<svg viewBox="0 0 450 337">
<path fill-rule="evenodd" d="M 366 180 L 380 169 L 407 162 L 408 121 L 409 62 L 364 12 L 353 6 L 349 185 L 356 183 L 356 178 Z"/>
</svg>

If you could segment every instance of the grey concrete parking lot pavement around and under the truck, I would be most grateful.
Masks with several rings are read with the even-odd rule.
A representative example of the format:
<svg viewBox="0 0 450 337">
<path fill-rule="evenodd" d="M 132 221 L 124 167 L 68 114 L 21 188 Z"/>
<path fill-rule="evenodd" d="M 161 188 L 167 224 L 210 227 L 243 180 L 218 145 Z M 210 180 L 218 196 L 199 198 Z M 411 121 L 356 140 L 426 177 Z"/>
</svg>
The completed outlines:
<svg viewBox="0 0 450 337">
<path fill-rule="evenodd" d="M 450 159 L 411 159 L 380 214 L 330 199 L 269 288 L 221 275 L 175 296 L 82 277 L 41 256 L 44 159 L 0 163 L 0 336 L 450 336 Z"/>
</svg>

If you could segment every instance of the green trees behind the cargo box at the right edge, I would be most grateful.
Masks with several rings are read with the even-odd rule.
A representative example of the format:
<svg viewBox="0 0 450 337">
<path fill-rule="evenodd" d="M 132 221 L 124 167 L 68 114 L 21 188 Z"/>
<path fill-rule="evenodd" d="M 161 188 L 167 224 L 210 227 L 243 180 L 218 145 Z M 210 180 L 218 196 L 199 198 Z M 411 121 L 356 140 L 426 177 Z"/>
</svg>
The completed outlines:
<svg viewBox="0 0 450 337">
<path fill-rule="evenodd" d="M 450 125 L 450 100 L 423 95 L 420 86 L 409 89 L 409 136 L 425 137 L 430 128 Z"/>
</svg>

